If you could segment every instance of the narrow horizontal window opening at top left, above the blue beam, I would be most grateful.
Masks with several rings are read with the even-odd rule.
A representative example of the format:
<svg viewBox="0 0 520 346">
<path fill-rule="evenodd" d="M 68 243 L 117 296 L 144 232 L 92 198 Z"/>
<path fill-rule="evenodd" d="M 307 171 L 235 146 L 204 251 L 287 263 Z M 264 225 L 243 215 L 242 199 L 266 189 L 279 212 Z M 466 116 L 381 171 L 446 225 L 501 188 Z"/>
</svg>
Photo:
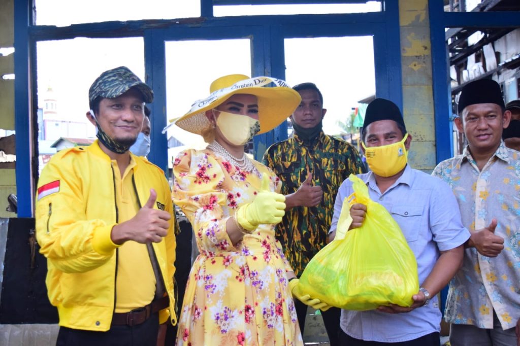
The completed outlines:
<svg viewBox="0 0 520 346">
<path fill-rule="evenodd" d="M 200 16 L 200 1 L 197 0 L 35 0 L 35 4 L 37 25 L 68 26 Z"/>
</svg>

